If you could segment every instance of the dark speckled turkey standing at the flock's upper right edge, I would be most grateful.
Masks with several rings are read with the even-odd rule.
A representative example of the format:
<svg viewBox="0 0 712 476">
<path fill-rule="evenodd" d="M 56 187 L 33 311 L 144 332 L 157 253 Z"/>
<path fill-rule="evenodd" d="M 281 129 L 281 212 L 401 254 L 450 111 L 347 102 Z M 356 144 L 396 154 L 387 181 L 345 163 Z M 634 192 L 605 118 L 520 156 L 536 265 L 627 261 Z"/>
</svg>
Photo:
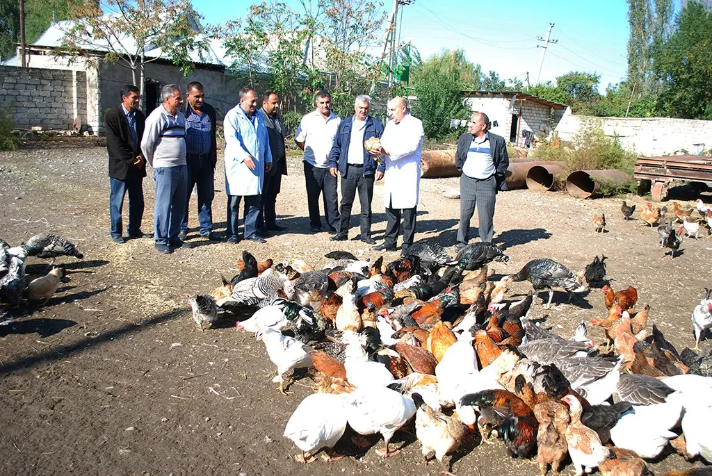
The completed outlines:
<svg viewBox="0 0 712 476">
<path fill-rule="evenodd" d="M 551 300 L 554 297 L 553 287 L 562 287 L 568 293 L 569 300 L 571 300 L 572 292 L 589 290 L 583 273 L 575 275 L 564 265 L 548 258 L 531 260 L 519 270 L 519 273 L 505 276 L 502 281 L 529 281 L 537 291 L 549 290 L 549 301 L 544 306 L 545 309 L 549 309 L 551 306 Z"/>
</svg>

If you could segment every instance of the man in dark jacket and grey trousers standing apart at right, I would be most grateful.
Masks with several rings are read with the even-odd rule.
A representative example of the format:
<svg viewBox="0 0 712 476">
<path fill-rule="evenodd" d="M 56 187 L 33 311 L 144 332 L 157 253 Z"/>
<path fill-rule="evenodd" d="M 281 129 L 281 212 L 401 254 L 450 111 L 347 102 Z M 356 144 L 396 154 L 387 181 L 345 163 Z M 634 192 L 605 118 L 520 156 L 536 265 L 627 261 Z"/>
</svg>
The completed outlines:
<svg viewBox="0 0 712 476">
<path fill-rule="evenodd" d="M 506 190 L 509 156 L 504 137 L 487 132 L 489 118 L 475 112 L 470 120 L 470 132 L 462 134 L 457 143 L 455 166 L 460 176 L 460 228 L 457 250 L 467 245 L 470 218 L 477 206 L 478 231 L 483 243 L 492 243 L 494 206 L 498 190 Z"/>
</svg>

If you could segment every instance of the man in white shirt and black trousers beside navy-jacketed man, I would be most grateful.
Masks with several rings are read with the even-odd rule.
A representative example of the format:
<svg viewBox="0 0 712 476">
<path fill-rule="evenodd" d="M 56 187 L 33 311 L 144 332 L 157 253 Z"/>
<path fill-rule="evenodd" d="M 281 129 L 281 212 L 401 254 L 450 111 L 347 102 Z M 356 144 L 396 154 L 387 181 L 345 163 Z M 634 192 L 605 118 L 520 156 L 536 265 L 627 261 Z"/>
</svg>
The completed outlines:
<svg viewBox="0 0 712 476">
<path fill-rule="evenodd" d="M 319 196 L 324 195 L 324 217 L 331 233 L 337 233 L 339 224 L 339 196 L 336 191 L 337 168 L 329 167 L 329 154 L 340 119 L 331 112 L 331 96 L 319 91 L 315 97 L 316 109 L 302 117 L 294 142 L 304 151 L 304 179 L 307 187 L 310 229 L 322 231 L 319 213 Z"/>
</svg>

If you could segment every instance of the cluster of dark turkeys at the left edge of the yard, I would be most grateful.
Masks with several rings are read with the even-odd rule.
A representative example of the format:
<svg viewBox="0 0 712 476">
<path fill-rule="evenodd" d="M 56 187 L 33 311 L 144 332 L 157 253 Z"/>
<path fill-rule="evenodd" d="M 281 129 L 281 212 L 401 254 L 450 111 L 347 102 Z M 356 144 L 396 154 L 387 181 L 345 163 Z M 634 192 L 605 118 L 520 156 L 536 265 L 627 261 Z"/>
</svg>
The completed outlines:
<svg viewBox="0 0 712 476">
<path fill-rule="evenodd" d="M 26 275 L 28 256 L 51 259 L 48 272 L 35 278 Z M 35 235 L 14 248 L 0 239 L 0 305 L 4 305 L 0 306 L 0 325 L 12 320 L 8 307 L 19 307 L 23 299 L 46 303 L 54 295 L 64 277 L 63 266 L 53 266 L 59 256 L 84 258 L 75 245 L 49 233 Z"/>
</svg>

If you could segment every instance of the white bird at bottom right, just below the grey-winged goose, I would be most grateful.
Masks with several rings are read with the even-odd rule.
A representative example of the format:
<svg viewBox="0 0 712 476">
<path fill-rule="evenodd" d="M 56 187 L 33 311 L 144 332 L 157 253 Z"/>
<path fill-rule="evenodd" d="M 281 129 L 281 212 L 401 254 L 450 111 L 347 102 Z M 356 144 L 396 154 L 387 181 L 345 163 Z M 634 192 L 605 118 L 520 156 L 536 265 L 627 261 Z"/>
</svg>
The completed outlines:
<svg viewBox="0 0 712 476">
<path fill-rule="evenodd" d="M 670 393 L 665 403 L 634 405 L 611 428 L 611 440 L 618 448 L 632 450 L 641 458 L 655 458 L 668 440 L 676 438 L 670 430 L 677 425 L 682 414 L 683 396 Z"/>
</svg>

